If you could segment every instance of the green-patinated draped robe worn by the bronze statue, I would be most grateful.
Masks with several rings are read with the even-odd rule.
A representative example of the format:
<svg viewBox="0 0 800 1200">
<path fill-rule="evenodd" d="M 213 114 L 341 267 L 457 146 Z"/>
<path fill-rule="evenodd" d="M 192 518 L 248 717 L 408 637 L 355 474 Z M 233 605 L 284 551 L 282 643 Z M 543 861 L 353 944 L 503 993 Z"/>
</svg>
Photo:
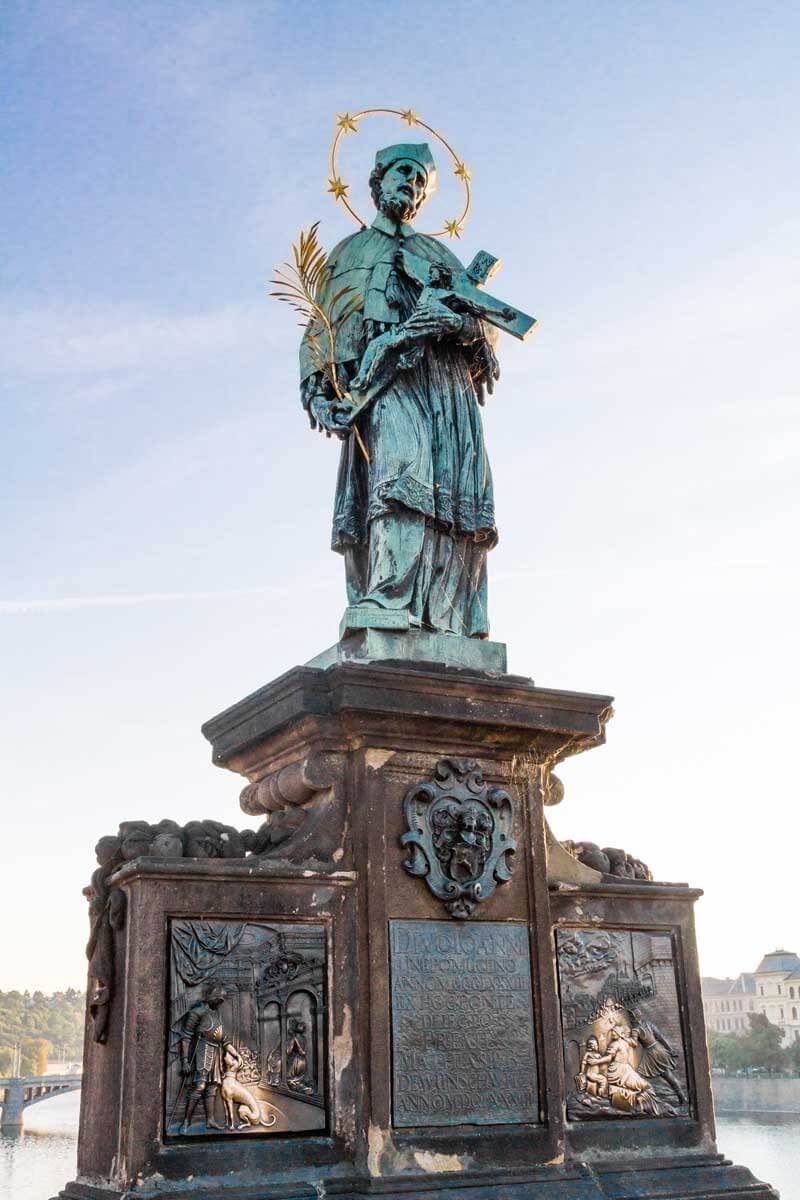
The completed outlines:
<svg viewBox="0 0 800 1200">
<path fill-rule="evenodd" d="M 369 342 L 405 320 L 420 293 L 395 266 L 398 247 L 463 270 L 434 238 L 378 214 L 372 228 L 331 252 L 323 304 L 343 287 L 363 305 L 336 337 L 347 388 Z M 479 403 L 491 386 L 493 331 L 473 317 L 457 334 L 426 338 L 420 360 L 399 370 L 348 437 L 333 505 L 332 548 L 345 558 L 348 601 L 404 608 L 413 625 L 468 637 L 488 634 L 486 554 L 497 542 L 492 473 Z M 309 326 L 324 342 L 320 329 Z M 307 336 L 300 348 L 301 395 L 332 395 Z"/>
</svg>

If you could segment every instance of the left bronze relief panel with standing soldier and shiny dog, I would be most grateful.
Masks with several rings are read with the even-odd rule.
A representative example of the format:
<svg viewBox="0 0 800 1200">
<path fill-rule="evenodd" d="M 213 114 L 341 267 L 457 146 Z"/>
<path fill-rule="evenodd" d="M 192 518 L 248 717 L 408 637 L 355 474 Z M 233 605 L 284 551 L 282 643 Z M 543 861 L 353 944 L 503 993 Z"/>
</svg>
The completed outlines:
<svg viewBox="0 0 800 1200">
<path fill-rule="evenodd" d="M 324 1130 L 325 926 L 170 922 L 164 1129 Z"/>
</svg>

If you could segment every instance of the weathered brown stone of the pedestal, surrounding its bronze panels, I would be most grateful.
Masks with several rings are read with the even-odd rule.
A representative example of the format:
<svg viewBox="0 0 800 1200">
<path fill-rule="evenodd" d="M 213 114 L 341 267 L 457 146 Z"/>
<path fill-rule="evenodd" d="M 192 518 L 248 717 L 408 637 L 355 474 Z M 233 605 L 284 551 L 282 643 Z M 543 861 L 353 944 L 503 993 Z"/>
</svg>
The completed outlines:
<svg viewBox="0 0 800 1200">
<path fill-rule="evenodd" d="M 515 677 L 344 662 L 327 671 L 299 667 L 207 722 L 215 762 L 245 776 L 243 805 L 265 816 L 267 832 L 273 820 L 291 815 L 281 830 L 289 833 L 259 857 L 145 857 L 126 862 L 106 881 L 109 894 L 126 895 L 127 922 L 113 930 L 108 1040 L 86 1042 L 80 1175 L 64 1195 L 121 1200 L 134 1187 L 143 1200 L 170 1194 L 223 1200 L 234 1192 L 236 1200 L 315 1200 L 320 1190 L 343 1200 L 374 1194 L 459 1200 L 465 1189 L 475 1200 L 700 1194 L 775 1200 L 768 1187 L 716 1152 L 692 928 L 698 893 L 637 880 L 609 882 L 564 850 L 570 882 L 558 882 L 555 863 L 548 888 L 548 859 L 558 858 L 552 841 L 548 852 L 543 820 L 545 803 L 554 796 L 552 767 L 601 744 L 609 715 L 609 697 L 536 688 Z M 434 779 L 445 760 L 474 761 L 488 788 L 507 793 L 512 812 L 513 872 L 476 904 L 468 923 L 445 916 L 441 900 L 403 865 L 405 798 Z M 477 779 L 475 786 L 482 786 Z M 465 846 L 473 832 L 464 829 Z M 480 839 L 475 845 L 474 863 L 461 850 L 453 862 L 447 857 L 457 877 L 481 866 Z M 206 1136 L 198 1110 L 194 1133 L 174 1126 L 164 1132 L 164 1062 L 175 1024 L 164 1003 L 170 920 L 324 926 L 325 1128 Z M 476 947 L 488 944 L 497 930 L 510 931 L 521 944 L 528 941 L 530 992 L 524 983 L 510 992 L 515 1004 L 519 1001 L 515 1027 L 498 1031 L 492 1019 L 488 1028 L 498 1061 L 510 1043 L 530 1064 L 536 1100 L 516 1090 L 509 1068 L 515 1087 L 504 1091 L 517 1098 L 504 1110 L 503 1124 L 483 1123 L 488 1106 L 474 1104 L 473 1093 L 468 1104 L 461 1094 L 453 1102 L 444 1080 L 437 1104 L 452 1106 L 446 1115 L 457 1123 L 425 1123 L 435 1114 L 404 1123 L 411 1115 L 401 1115 L 398 1100 L 419 1090 L 397 1086 L 397 1056 L 405 1050 L 397 1038 L 405 1040 L 408 1028 L 393 1022 L 392 990 L 398 1000 L 410 991 L 402 982 L 408 973 L 397 973 L 390 931 L 396 936 L 409 923 L 475 934 Z M 565 1110 L 573 1082 L 565 1073 L 555 946 L 557 936 L 576 929 L 672 938 L 681 1013 L 679 1079 L 690 1103 L 668 1120 L 622 1112 L 572 1120 Z M 491 1004 L 481 996 L 492 978 L 477 950 L 463 959 L 462 974 L 470 976 L 463 989 L 470 998 L 463 1036 L 471 1037 L 470 1030 L 485 1027 L 479 1016 L 489 1020 Z M 519 983 L 527 978 L 518 974 L 523 960 L 513 961 L 510 978 Z M 427 970 L 434 978 L 439 968 Z M 243 978 L 241 964 L 236 973 Z M 452 980 L 455 973 L 447 968 L 440 978 Z M 488 995 L 494 1002 L 500 994 L 497 988 Z M 245 994 L 240 1003 L 243 1010 Z M 438 1002 L 437 1016 L 447 1003 Z M 530 1019 L 527 1009 L 521 1015 L 524 1003 Z M 223 1015 L 235 1018 L 233 1010 Z M 660 1013 L 654 1020 L 674 1042 Z M 524 1034 L 517 1037 L 519 1030 Z M 449 1040 L 438 1052 L 443 1063 L 456 1054 Z"/>
</svg>

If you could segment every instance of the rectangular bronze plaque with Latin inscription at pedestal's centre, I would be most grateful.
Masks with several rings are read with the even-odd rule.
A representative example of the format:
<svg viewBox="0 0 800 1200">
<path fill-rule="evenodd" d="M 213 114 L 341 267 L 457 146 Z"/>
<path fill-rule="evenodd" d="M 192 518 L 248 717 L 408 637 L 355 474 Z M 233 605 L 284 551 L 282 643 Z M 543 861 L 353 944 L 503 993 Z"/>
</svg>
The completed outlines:
<svg viewBox="0 0 800 1200">
<path fill-rule="evenodd" d="M 527 925 L 389 924 L 395 1126 L 539 1121 Z"/>
</svg>

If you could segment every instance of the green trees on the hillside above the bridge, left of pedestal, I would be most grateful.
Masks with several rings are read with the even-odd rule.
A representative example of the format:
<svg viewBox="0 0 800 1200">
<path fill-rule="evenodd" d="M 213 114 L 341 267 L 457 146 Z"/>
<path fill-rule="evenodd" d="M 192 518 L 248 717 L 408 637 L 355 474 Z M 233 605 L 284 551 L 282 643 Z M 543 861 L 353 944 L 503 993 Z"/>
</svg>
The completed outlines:
<svg viewBox="0 0 800 1200">
<path fill-rule="evenodd" d="M 80 1062 L 85 997 L 68 988 L 46 996 L 41 991 L 0 991 L 0 1075 L 11 1075 L 17 1062 L 23 1075 L 46 1075 L 48 1061 Z"/>
</svg>

